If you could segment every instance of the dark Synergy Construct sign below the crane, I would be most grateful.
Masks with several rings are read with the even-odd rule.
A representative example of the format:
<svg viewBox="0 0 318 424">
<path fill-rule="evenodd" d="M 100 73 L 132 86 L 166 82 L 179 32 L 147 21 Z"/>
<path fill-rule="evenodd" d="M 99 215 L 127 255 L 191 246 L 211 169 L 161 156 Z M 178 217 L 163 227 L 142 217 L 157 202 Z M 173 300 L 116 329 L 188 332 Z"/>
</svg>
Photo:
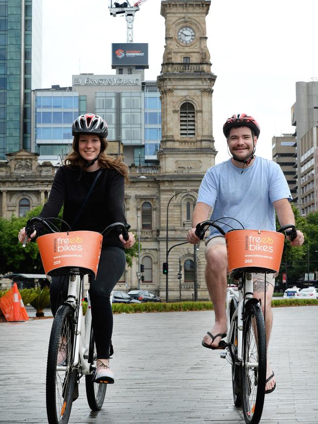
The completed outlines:
<svg viewBox="0 0 318 424">
<path fill-rule="evenodd" d="M 148 44 L 112 44 L 112 68 L 120 65 L 137 65 L 148 68 Z"/>
</svg>

